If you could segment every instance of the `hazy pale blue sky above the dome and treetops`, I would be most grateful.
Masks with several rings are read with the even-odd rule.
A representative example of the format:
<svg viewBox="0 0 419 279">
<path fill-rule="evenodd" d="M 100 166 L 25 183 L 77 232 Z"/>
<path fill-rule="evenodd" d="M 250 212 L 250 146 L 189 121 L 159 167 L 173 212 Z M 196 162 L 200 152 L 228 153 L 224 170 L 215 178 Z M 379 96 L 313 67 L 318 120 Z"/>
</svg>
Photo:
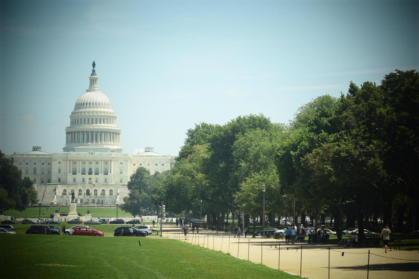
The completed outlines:
<svg viewBox="0 0 419 279">
<path fill-rule="evenodd" d="M 1 1 L 0 149 L 61 152 L 96 61 L 124 152 L 195 123 L 287 123 L 349 82 L 418 69 L 417 1 Z"/>
</svg>

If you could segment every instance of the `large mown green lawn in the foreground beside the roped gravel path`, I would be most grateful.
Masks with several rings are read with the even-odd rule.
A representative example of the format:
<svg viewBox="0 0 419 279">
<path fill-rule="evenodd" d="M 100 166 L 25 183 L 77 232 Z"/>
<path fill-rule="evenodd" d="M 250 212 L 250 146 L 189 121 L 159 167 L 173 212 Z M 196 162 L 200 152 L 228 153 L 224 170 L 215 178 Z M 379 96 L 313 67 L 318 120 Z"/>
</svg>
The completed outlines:
<svg viewBox="0 0 419 279">
<path fill-rule="evenodd" d="M 169 239 L 0 235 L 4 278 L 294 278 Z M 141 251 L 138 241 L 141 241 Z"/>
</svg>

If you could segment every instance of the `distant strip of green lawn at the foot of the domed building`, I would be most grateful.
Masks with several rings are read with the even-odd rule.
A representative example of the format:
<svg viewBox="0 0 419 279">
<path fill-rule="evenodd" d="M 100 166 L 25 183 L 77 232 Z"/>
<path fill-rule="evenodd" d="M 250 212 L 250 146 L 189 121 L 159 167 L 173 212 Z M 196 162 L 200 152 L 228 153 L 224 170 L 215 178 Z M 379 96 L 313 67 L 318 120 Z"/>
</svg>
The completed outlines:
<svg viewBox="0 0 419 279">
<path fill-rule="evenodd" d="M 41 218 L 49 218 L 50 213 L 54 213 L 56 209 L 59 208 L 59 212 L 69 212 L 70 207 L 41 207 Z M 90 210 L 92 218 L 102 218 L 102 217 L 116 217 L 116 207 L 113 208 L 105 208 L 105 207 L 77 207 L 77 213 L 80 213 L 82 216 L 87 214 L 87 211 Z M 43 215 L 45 212 L 45 215 Z M 5 210 L 3 211 L 3 215 L 6 216 L 13 216 L 17 218 L 38 218 L 39 217 L 39 207 L 26 207 L 23 211 L 17 210 Z M 118 208 L 118 218 L 132 218 L 131 213 L 125 212 Z M 139 218 L 135 218 L 139 219 Z M 131 220 L 131 219 L 129 219 Z M 128 220 L 125 220 L 128 221 Z"/>
</svg>

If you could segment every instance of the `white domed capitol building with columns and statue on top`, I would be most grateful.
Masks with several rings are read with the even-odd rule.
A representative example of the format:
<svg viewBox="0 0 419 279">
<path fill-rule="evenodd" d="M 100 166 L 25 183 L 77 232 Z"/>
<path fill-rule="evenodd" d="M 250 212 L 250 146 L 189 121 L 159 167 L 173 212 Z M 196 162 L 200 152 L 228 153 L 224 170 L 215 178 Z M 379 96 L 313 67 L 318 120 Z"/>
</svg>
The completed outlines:
<svg viewBox="0 0 419 279">
<path fill-rule="evenodd" d="M 78 204 L 123 203 L 127 182 L 140 166 L 150 174 L 171 169 L 175 156 L 154 152 L 122 153 L 116 113 L 109 98 L 99 90 L 93 61 L 89 88 L 75 102 L 70 125 L 65 128 L 63 152 L 49 154 L 41 146 L 11 155 L 13 164 L 29 177 L 43 205 L 66 204 L 75 194 Z"/>
</svg>

